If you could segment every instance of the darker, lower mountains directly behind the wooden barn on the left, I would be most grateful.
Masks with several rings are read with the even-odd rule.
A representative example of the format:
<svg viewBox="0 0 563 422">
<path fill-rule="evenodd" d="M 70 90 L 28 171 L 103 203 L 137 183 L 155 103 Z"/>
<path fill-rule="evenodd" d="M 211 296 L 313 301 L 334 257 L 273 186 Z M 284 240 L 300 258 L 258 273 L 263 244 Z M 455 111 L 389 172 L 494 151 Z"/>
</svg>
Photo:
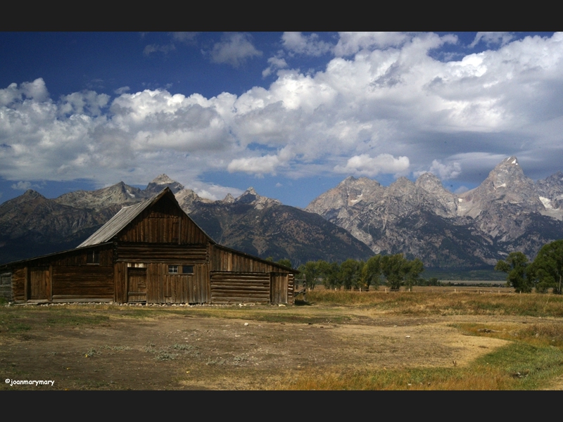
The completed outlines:
<svg viewBox="0 0 563 422">
<path fill-rule="evenodd" d="M 308 260 L 365 260 L 367 245 L 320 215 L 281 204 L 248 188 L 239 198 L 199 197 L 161 174 L 145 189 L 120 182 L 97 191 L 75 191 L 48 199 L 36 191 L 0 205 L 0 263 L 75 248 L 121 207 L 169 187 L 179 205 L 217 243 L 259 257 Z"/>
</svg>

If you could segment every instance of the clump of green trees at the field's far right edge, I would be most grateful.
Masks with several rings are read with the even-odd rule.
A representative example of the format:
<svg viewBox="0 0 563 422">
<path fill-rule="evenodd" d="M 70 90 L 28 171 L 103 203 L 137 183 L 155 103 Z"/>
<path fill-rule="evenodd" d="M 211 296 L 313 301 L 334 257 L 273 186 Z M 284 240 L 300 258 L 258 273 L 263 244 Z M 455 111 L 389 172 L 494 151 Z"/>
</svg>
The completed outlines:
<svg viewBox="0 0 563 422">
<path fill-rule="evenodd" d="M 507 285 L 518 293 L 529 293 L 536 288 L 538 293 L 561 294 L 563 288 L 563 240 L 543 245 L 533 262 L 522 252 L 510 252 L 505 260 L 495 265 L 495 270 L 507 273 Z"/>
</svg>

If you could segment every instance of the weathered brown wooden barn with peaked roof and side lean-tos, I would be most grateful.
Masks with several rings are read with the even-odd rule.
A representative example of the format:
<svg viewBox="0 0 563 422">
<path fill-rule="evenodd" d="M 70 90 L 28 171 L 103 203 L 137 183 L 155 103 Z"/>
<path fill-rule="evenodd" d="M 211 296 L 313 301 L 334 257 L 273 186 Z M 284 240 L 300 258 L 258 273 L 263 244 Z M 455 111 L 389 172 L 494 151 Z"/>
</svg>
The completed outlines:
<svg viewBox="0 0 563 422">
<path fill-rule="evenodd" d="M 14 302 L 293 304 L 298 271 L 218 245 L 170 188 L 76 249 L 0 266 Z"/>
</svg>

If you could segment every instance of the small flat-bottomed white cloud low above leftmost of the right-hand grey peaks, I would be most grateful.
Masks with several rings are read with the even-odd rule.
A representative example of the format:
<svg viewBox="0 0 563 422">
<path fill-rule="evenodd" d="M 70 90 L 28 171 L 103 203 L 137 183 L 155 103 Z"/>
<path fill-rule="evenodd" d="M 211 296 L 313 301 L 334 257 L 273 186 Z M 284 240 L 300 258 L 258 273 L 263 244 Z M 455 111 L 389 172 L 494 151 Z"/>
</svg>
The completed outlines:
<svg viewBox="0 0 563 422">
<path fill-rule="evenodd" d="M 407 157 L 395 158 L 391 154 L 379 154 L 376 157 L 370 157 L 367 154 L 362 154 L 348 158 L 346 166 L 337 165 L 334 167 L 334 171 L 374 177 L 380 173 L 405 174 L 409 165 Z"/>
</svg>

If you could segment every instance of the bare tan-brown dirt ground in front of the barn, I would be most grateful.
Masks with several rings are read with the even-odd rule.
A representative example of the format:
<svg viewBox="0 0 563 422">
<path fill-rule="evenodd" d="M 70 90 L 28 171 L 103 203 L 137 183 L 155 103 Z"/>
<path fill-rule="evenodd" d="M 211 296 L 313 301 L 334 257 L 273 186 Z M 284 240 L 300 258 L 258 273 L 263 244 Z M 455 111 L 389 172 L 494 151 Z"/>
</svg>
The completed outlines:
<svg viewBox="0 0 563 422">
<path fill-rule="evenodd" d="M 385 314 L 339 319 L 335 310 L 303 308 L 263 307 L 236 318 L 233 312 L 222 316 L 223 309 L 214 316 L 213 307 L 205 314 L 186 307 L 125 317 L 122 307 L 106 306 L 106 321 L 77 326 L 49 324 L 39 312 L 25 319 L 30 328 L 22 333 L 0 326 L 0 373 L 54 385 L 1 389 L 251 390 L 272 388 L 292 371 L 311 368 L 460 366 L 505 340 L 463 335 L 455 324 L 536 320 Z M 263 321 L 280 314 L 284 321 Z"/>
</svg>

